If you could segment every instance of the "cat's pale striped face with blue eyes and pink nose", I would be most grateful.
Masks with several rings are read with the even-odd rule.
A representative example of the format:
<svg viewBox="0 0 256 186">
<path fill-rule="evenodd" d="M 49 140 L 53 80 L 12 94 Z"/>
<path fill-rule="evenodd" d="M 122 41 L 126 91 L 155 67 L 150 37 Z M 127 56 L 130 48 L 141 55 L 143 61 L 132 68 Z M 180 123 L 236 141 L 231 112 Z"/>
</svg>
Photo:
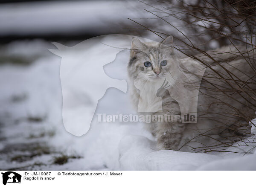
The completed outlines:
<svg viewBox="0 0 256 186">
<path fill-rule="evenodd" d="M 133 79 L 140 76 L 143 80 L 156 81 L 169 74 L 174 62 L 169 46 L 143 44 L 137 39 L 132 43 L 128 71 Z"/>
</svg>

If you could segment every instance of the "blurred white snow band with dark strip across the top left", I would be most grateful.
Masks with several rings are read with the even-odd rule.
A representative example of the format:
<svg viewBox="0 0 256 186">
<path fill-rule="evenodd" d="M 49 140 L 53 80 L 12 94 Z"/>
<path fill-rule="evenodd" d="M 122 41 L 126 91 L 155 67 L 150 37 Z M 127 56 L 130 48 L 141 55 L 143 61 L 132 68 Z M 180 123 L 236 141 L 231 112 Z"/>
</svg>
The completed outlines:
<svg viewBox="0 0 256 186">
<path fill-rule="evenodd" d="M 98 35 L 131 34 L 132 21 L 145 4 L 126 0 L 0 1 L 0 42 L 83 41 Z M 143 23 L 146 21 L 143 21 Z"/>
</svg>

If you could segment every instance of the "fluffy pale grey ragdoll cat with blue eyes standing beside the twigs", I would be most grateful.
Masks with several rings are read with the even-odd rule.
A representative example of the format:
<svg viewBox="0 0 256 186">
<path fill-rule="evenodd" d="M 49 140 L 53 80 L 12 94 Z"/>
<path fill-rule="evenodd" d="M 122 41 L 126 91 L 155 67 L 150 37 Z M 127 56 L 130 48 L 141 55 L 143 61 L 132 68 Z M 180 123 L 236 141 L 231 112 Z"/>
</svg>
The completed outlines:
<svg viewBox="0 0 256 186">
<path fill-rule="evenodd" d="M 255 66 L 248 62 L 253 60 L 253 50 L 246 55 L 240 55 L 241 51 L 247 51 L 244 46 L 226 46 L 216 51 L 219 52 L 208 52 L 210 57 L 205 54 L 195 55 L 196 59 L 181 58 L 174 52 L 172 36 L 162 43 L 132 39 L 127 70 L 131 101 L 137 111 L 181 116 L 188 112 L 186 107 L 192 105 L 197 109 L 196 113 L 193 110 L 196 123 L 160 121 L 146 124 L 157 138 L 157 149 L 177 151 L 184 145 L 195 148 L 205 145 L 205 138 L 210 135 L 227 141 L 227 138 L 250 134 L 248 122 L 255 117 L 256 111 Z M 168 74 L 171 79 L 166 78 Z M 159 86 L 162 82 L 166 82 L 163 88 Z M 198 96 L 190 101 L 194 90 Z M 162 98 L 162 107 L 159 107 L 159 98 Z M 147 110 L 148 107 L 157 109 Z M 195 138 L 196 144 L 191 142 Z M 215 142 L 221 140 L 210 138 Z"/>
</svg>

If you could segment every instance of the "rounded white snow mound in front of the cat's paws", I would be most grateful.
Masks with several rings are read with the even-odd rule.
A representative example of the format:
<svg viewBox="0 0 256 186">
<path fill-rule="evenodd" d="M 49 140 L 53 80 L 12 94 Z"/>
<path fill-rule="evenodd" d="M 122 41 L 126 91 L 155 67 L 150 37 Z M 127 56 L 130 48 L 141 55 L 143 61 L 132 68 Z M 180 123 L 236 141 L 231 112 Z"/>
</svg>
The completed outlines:
<svg viewBox="0 0 256 186">
<path fill-rule="evenodd" d="M 126 136 L 119 144 L 122 170 L 195 170 L 208 162 L 222 159 L 211 154 L 155 151 L 155 143 L 141 136 Z"/>
</svg>

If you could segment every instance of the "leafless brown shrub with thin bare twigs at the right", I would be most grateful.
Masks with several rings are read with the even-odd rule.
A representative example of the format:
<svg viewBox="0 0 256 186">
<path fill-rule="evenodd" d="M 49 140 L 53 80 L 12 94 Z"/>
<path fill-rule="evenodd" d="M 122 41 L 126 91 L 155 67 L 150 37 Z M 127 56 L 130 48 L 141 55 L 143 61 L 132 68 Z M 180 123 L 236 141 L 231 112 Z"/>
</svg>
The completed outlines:
<svg viewBox="0 0 256 186">
<path fill-rule="evenodd" d="M 214 129 L 204 131 L 197 137 L 208 137 L 215 143 L 191 148 L 200 152 L 226 152 L 231 145 L 248 146 L 244 153 L 250 153 L 255 148 L 255 145 L 251 145 L 255 139 L 250 133 L 250 125 L 256 125 L 249 125 L 255 118 L 256 110 L 256 2 L 160 0 L 141 3 L 148 5 L 145 13 L 153 15 L 154 18 L 149 18 L 152 21 L 151 26 L 143 25 L 138 19 L 131 19 L 137 23 L 136 29 L 146 30 L 160 39 L 173 35 L 178 52 L 209 69 L 209 76 L 204 77 L 201 84 L 205 87 L 201 87 L 200 91 L 201 94 L 207 92 L 206 96 L 214 98 L 215 101 L 205 103 L 206 109 L 201 117 L 211 114 L 214 116 L 211 119 L 216 122 L 216 128 L 222 128 L 223 134 L 225 131 L 232 131 L 229 133 L 232 135 L 219 138 L 208 135 Z M 231 52 L 224 50 L 222 46 L 230 46 Z M 243 61 L 250 73 L 240 67 L 224 65 L 230 61 Z M 233 99 L 233 102 L 227 102 L 227 99 Z M 189 142 L 196 142 L 197 137 Z M 189 145 L 189 142 L 184 145 Z"/>
</svg>

